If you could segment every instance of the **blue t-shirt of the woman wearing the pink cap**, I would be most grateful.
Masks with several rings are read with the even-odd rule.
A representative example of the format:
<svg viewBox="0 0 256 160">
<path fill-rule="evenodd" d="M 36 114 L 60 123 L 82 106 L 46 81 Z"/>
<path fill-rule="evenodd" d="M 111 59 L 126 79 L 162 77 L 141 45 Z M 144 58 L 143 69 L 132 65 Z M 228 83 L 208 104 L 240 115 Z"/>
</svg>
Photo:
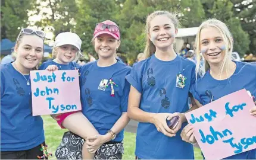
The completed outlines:
<svg viewBox="0 0 256 160">
<path fill-rule="evenodd" d="M 120 61 L 108 67 L 99 67 L 97 62 L 98 60 L 80 68 L 80 95 L 83 114 L 99 134 L 105 135 L 121 114 L 127 112 L 130 84 L 125 76 L 130 73 L 131 68 Z M 117 85 L 113 85 L 114 97 L 111 97 L 111 85 L 104 87 L 110 79 Z M 124 130 L 112 141 L 121 142 L 123 137 Z"/>
</svg>

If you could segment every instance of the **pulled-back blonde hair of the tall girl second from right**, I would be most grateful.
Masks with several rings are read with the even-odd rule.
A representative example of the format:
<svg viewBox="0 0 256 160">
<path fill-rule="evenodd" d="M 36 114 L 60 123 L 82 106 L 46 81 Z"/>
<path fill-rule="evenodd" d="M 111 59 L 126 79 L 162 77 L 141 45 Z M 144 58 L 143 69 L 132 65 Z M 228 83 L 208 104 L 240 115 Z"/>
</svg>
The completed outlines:
<svg viewBox="0 0 256 160">
<path fill-rule="evenodd" d="M 144 54 L 146 57 L 152 56 L 152 54 L 155 52 L 155 45 L 152 43 L 152 41 L 148 37 L 149 29 L 150 29 L 150 23 L 153 20 L 153 18 L 157 17 L 158 15 L 166 15 L 168 18 L 170 18 L 171 22 L 174 24 L 175 29 L 179 25 L 179 20 L 177 19 L 176 15 L 174 13 L 168 12 L 168 11 L 155 11 L 152 12 L 148 17 L 146 18 L 146 27 L 145 27 L 145 35 L 146 35 L 146 47 L 144 50 Z"/>
</svg>

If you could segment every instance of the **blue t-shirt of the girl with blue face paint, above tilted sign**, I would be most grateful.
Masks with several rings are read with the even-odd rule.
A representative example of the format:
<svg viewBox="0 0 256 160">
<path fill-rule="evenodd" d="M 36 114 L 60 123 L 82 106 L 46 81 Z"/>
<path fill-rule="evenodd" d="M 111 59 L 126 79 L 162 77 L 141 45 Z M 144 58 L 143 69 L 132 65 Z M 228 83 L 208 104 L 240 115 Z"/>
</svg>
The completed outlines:
<svg viewBox="0 0 256 160">
<path fill-rule="evenodd" d="M 256 96 L 256 63 L 237 62 L 236 69 L 229 79 L 217 80 L 210 75 L 210 70 L 191 87 L 193 97 L 202 105 L 218 100 L 224 95 L 243 88 Z M 225 159 L 255 159 L 255 149 L 229 156 Z"/>
</svg>

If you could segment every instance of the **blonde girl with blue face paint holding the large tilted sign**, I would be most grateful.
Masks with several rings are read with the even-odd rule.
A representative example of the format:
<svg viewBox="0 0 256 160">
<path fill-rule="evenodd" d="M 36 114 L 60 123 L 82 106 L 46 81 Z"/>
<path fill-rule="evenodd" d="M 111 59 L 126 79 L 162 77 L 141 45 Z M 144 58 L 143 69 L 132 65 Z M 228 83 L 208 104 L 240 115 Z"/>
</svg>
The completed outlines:
<svg viewBox="0 0 256 160">
<path fill-rule="evenodd" d="M 205 105 L 243 88 L 250 91 L 252 97 L 256 96 L 256 63 L 232 60 L 233 38 L 226 24 L 216 19 L 205 21 L 199 27 L 195 44 L 196 74 L 200 74 L 200 53 L 204 56 L 206 71 L 191 89 L 198 103 Z M 256 116 L 256 107 L 252 108 L 248 116 L 251 116 L 250 114 Z M 186 142 L 196 142 L 192 125 L 186 126 L 181 136 Z M 255 158 L 255 149 L 253 149 L 226 159 Z"/>
</svg>

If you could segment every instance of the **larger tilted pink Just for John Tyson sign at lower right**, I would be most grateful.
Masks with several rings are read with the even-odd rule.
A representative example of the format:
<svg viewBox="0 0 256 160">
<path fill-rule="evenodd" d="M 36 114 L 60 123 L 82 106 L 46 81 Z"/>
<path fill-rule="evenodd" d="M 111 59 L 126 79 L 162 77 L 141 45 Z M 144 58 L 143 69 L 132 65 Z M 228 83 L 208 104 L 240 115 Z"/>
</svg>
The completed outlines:
<svg viewBox="0 0 256 160">
<path fill-rule="evenodd" d="M 186 113 L 205 159 L 222 159 L 256 148 L 254 102 L 245 89 Z"/>
</svg>

